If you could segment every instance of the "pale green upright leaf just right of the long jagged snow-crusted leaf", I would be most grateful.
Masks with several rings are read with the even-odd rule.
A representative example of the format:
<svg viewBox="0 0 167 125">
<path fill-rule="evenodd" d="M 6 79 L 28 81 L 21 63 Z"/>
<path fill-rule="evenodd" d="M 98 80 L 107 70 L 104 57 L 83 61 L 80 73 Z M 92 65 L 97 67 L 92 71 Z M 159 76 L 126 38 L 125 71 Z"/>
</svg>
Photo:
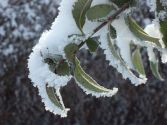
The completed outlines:
<svg viewBox="0 0 167 125">
<path fill-rule="evenodd" d="M 131 47 L 132 47 L 132 45 L 131 45 Z M 135 50 L 132 52 L 132 62 L 133 62 L 133 65 L 134 65 L 136 71 L 139 74 L 142 74 L 145 76 L 146 74 L 145 74 L 145 70 L 144 70 L 139 47 L 136 47 Z"/>
</svg>

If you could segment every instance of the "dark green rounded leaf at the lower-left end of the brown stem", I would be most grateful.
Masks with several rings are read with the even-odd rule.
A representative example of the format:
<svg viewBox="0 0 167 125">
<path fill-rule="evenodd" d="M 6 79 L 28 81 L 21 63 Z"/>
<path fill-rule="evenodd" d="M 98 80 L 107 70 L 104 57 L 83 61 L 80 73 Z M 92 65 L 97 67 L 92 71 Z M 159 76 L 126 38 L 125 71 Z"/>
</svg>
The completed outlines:
<svg viewBox="0 0 167 125">
<path fill-rule="evenodd" d="M 78 45 L 75 43 L 70 43 L 64 48 L 66 58 L 72 63 L 75 61 L 75 53 L 77 50 L 78 50 Z"/>
</svg>

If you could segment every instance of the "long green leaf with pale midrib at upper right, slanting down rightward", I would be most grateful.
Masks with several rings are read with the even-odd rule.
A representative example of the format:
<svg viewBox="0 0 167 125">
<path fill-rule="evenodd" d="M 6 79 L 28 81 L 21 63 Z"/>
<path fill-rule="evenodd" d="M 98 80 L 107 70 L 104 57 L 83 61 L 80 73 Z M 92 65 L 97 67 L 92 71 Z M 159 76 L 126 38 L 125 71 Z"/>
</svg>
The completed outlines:
<svg viewBox="0 0 167 125">
<path fill-rule="evenodd" d="M 141 40 L 144 40 L 144 41 L 149 41 L 149 42 L 153 42 L 155 43 L 157 46 L 160 46 L 161 47 L 161 44 L 159 42 L 159 39 L 158 38 L 154 38 L 154 37 L 151 37 L 149 36 L 138 24 L 137 22 L 131 18 L 130 16 L 127 16 L 125 18 L 128 26 L 129 26 L 129 29 L 132 31 L 132 33 L 134 35 L 136 35 L 138 38 L 140 38 Z"/>
</svg>

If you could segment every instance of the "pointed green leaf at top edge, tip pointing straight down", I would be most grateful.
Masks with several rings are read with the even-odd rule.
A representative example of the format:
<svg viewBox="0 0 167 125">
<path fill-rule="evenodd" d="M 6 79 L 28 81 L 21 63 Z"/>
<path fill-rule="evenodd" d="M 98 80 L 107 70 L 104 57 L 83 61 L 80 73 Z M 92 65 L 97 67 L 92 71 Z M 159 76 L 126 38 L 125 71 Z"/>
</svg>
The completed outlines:
<svg viewBox="0 0 167 125">
<path fill-rule="evenodd" d="M 82 28 L 86 20 L 86 12 L 90 8 L 92 1 L 93 0 L 77 0 L 75 5 L 73 6 L 72 14 L 82 34 Z"/>
</svg>

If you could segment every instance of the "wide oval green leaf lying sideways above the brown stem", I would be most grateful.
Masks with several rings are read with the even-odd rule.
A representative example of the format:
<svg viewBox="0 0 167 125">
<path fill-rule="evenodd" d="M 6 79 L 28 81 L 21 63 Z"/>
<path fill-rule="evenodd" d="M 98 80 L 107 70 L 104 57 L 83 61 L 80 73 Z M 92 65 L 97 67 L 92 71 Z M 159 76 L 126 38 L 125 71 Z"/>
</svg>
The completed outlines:
<svg viewBox="0 0 167 125">
<path fill-rule="evenodd" d="M 95 5 L 91 7 L 86 15 L 88 20 L 98 20 L 102 19 L 110 14 L 110 12 L 114 10 L 114 7 L 112 5 L 108 4 L 100 4 L 100 5 Z"/>
</svg>

